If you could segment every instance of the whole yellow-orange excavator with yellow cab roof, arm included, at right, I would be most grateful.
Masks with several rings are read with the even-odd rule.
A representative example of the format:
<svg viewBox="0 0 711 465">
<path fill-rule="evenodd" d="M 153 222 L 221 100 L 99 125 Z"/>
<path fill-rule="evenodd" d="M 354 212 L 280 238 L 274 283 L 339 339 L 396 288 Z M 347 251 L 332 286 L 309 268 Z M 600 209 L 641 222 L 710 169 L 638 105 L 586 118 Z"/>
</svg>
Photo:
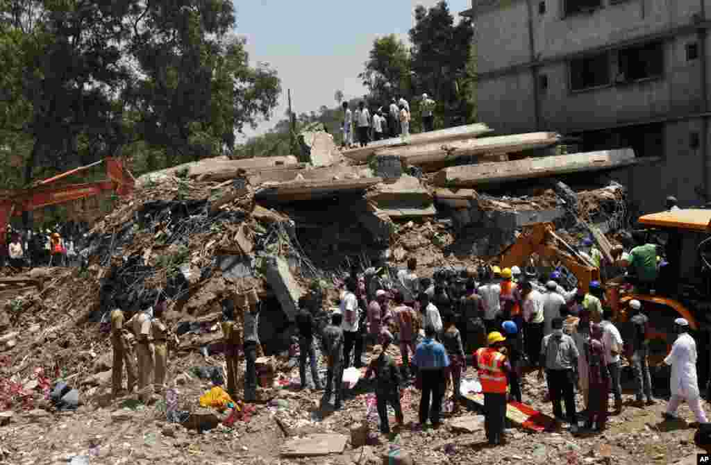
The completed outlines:
<svg viewBox="0 0 711 465">
<path fill-rule="evenodd" d="M 648 294 L 624 292 L 624 287 L 605 282 L 607 305 L 615 312 L 621 333 L 626 333 L 626 304 L 641 301 L 649 318 L 650 362 L 658 363 L 675 340 L 673 321 L 679 317 L 689 322 L 697 343 L 698 373 L 701 380 L 711 379 L 711 210 L 684 209 L 651 213 L 638 218 L 646 228 L 648 242 L 658 244 L 665 262 L 660 269 L 656 289 Z M 592 281 L 600 280 L 597 267 L 555 233 L 552 223 L 536 223 L 524 228 L 518 240 L 501 253 L 502 267 L 520 265 L 537 254 L 550 262 L 560 262 L 577 278 L 577 287 L 587 292 Z"/>
</svg>

